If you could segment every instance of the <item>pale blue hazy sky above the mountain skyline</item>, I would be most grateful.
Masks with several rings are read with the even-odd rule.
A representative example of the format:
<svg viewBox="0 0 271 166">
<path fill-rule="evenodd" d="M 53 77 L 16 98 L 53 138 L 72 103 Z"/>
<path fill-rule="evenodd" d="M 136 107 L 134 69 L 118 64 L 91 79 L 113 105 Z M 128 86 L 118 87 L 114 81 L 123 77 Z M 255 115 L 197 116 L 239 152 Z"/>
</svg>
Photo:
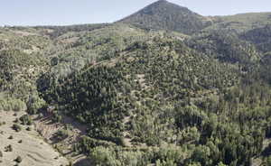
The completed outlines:
<svg viewBox="0 0 271 166">
<path fill-rule="evenodd" d="M 111 23 L 156 0 L 1 0 L 0 25 Z M 168 0 L 202 15 L 271 12 L 271 0 Z"/>
</svg>

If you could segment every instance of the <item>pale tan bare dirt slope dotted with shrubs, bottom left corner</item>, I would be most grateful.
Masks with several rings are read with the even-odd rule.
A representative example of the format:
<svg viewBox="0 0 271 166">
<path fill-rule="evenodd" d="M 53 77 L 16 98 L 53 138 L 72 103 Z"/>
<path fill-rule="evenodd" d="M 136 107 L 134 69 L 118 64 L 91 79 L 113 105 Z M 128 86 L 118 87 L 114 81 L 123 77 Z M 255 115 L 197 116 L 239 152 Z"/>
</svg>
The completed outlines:
<svg viewBox="0 0 271 166">
<path fill-rule="evenodd" d="M 20 166 L 60 166 L 67 165 L 68 160 L 61 157 L 59 152 L 56 152 L 50 144 L 45 143 L 41 136 L 34 130 L 25 130 L 26 126 L 22 126 L 22 131 L 15 132 L 12 128 L 14 120 L 24 115 L 24 112 L 17 112 L 14 115 L 13 111 L 0 111 L 0 122 L 5 124 L 0 126 L 0 151 L 3 152 L 3 157 L 0 157 L 0 165 L 13 166 L 14 161 L 18 156 L 21 156 L 23 161 Z M 33 126 L 31 126 L 33 128 Z M 10 136 L 13 139 L 9 139 Z M 22 140 L 22 143 L 19 143 Z M 12 152 L 5 152 L 5 147 L 12 145 Z"/>
</svg>

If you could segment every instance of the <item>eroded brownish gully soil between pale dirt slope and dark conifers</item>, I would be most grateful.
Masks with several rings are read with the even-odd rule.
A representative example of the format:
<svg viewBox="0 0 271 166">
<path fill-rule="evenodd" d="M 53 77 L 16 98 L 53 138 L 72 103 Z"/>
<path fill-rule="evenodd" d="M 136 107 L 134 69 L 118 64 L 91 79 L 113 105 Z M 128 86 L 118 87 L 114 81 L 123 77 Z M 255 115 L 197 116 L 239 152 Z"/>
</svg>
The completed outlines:
<svg viewBox="0 0 271 166">
<path fill-rule="evenodd" d="M 78 154 L 73 152 L 72 145 L 78 143 L 79 138 L 86 134 L 87 126 L 84 124 L 79 124 L 74 119 L 62 115 L 61 123 L 53 123 L 51 121 L 52 115 L 47 112 L 42 112 L 42 118 L 33 116 L 35 130 L 38 131 L 47 143 L 52 146 L 57 147 L 61 154 L 68 158 L 70 161 L 76 165 L 79 163 L 80 166 L 89 165 L 90 161 L 87 156 L 83 154 Z M 69 136 L 64 140 L 55 140 L 54 135 L 61 129 L 66 129 L 69 126 Z"/>
</svg>

